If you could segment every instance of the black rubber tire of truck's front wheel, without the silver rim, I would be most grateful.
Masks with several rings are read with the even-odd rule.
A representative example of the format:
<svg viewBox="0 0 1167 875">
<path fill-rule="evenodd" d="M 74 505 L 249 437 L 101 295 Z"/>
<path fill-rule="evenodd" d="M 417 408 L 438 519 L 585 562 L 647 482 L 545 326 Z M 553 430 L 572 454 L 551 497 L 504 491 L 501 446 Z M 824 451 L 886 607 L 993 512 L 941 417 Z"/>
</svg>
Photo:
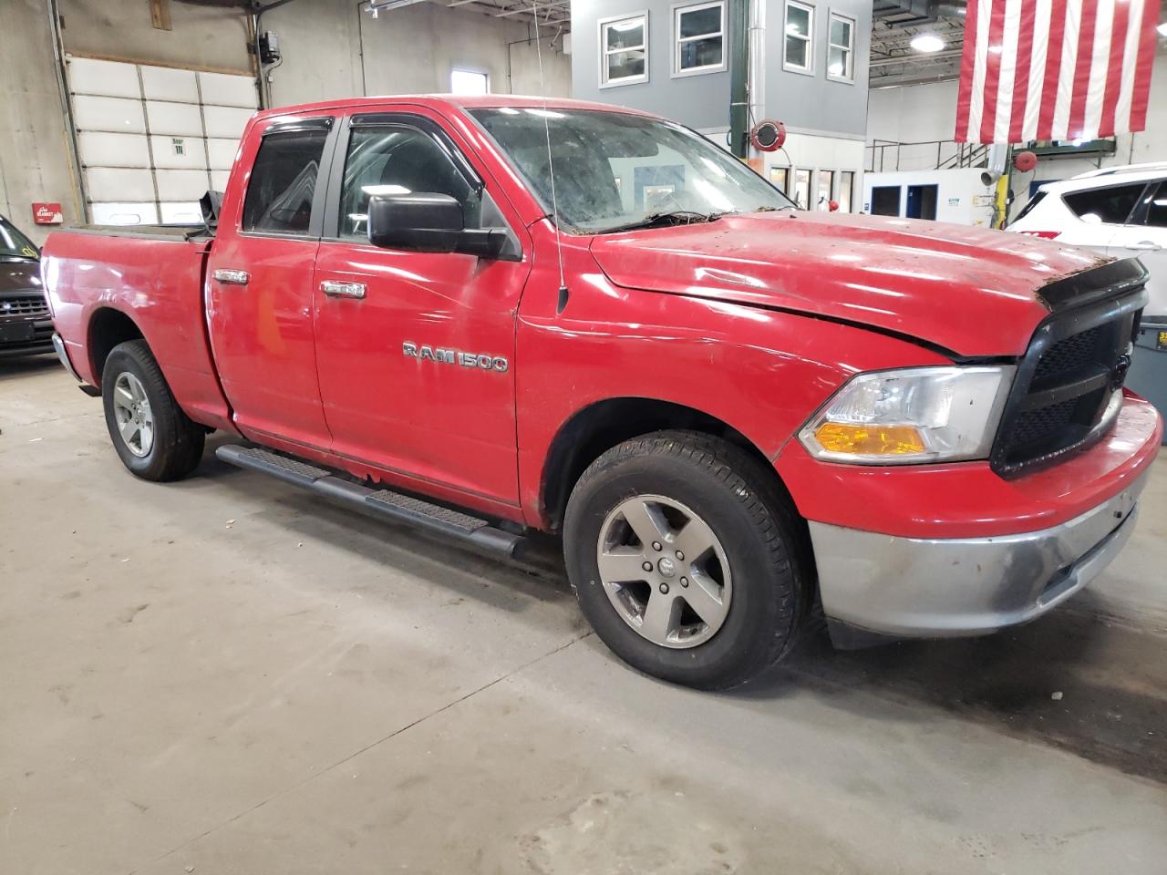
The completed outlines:
<svg viewBox="0 0 1167 875">
<path fill-rule="evenodd" d="M 617 612 L 600 579 L 596 552 L 605 520 L 622 502 L 642 495 L 694 511 L 728 560 L 728 610 L 721 626 L 694 646 L 670 648 L 643 637 Z M 663 680 L 726 690 L 766 671 L 795 642 L 809 602 L 803 532 L 773 475 L 745 450 L 699 432 L 656 432 L 608 450 L 579 478 L 567 503 L 564 554 L 584 615 L 616 656 Z"/>
</svg>

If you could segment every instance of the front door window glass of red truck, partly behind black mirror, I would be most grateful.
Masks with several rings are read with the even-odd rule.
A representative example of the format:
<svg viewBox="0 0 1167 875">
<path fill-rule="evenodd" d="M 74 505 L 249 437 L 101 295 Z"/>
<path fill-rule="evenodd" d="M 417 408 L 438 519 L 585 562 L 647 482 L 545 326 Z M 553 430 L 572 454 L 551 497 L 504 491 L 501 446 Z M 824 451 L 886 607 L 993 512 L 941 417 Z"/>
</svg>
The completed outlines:
<svg viewBox="0 0 1167 875">
<path fill-rule="evenodd" d="M 340 236 L 349 239 L 368 236 L 372 195 L 413 191 L 449 195 L 462 204 L 466 226 L 482 228 L 481 195 L 438 140 L 404 125 L 354 127 L 344 159 Z M 497 224 L 491 222 L 491 226 Z"/>
</svg>

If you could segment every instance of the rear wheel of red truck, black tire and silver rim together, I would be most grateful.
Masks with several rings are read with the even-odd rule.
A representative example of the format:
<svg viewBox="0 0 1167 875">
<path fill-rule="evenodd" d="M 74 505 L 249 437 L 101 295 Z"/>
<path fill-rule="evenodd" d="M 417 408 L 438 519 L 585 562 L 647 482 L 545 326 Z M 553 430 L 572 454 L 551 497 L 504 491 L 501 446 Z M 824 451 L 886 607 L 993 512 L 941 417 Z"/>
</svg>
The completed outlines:
<svg viewBox="0 0 1167 875">
<path fill-rule="evenodd" d="M 198 466 L 207 433 L 179 407 L 145 341 L 128 341 L 110 352 L 102 401 L 113 448 L 134 475 L 181 480 Z"/>
</svg>

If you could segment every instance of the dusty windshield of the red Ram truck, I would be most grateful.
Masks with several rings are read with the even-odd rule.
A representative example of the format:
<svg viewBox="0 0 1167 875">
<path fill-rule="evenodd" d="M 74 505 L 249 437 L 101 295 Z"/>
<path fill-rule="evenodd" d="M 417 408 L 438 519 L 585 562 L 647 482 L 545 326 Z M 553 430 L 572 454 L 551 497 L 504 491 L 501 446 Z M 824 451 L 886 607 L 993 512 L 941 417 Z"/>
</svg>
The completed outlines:
<svg viewBox="0 0 1167 875">
<path fill-rule="evenodd" d="M 523 174 L 548 215 L 550 134 L 564 230 L 603 233 L 708 220 L 727 212 L 795 209 L 785 195 L 725 149 L 668 121 L 596 110 L 503 106 L 469 112 Z"/>
</svg>

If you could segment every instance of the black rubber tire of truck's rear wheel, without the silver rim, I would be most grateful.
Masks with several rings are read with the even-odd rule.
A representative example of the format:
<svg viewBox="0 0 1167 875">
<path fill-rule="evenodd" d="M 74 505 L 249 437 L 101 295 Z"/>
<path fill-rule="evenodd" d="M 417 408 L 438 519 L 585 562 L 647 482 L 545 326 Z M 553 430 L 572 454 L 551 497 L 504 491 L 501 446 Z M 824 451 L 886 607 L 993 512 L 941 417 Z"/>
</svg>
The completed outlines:
<svg viewBox="0 0 1167 875">
<path fill-rule="evenodd" d="M 124 373 L 138 379 L 149 401 L 153 441 L 145 455 L 130 448 L 118 427 L 114 391 Z M 135 476 L 155 482 L 182 480 L 198 466 L 207 432 L 179 407 L 146 341 L 127 341 L 110 352 L 102 371 L 102 402 L 113 448 Z"/>
</svg>

